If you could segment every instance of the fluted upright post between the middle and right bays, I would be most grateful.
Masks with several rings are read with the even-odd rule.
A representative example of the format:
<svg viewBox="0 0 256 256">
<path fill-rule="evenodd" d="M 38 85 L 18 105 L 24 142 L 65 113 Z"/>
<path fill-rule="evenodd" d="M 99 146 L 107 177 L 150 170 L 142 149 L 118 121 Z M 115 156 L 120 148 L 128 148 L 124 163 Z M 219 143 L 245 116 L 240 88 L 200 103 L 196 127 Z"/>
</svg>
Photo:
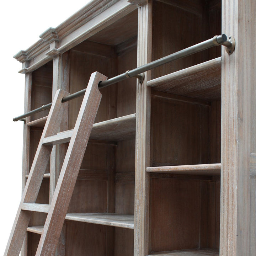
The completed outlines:
<svg viewBox="0 0 256 256">
<path fill-rule="evenodd" d="M 152 1 L 138 9 L 138 61 L 151 61 Z M 134 256 L 149 254 L 149 173 L 150 166 L 150 100 L 151 91 L 146 82 L 151 80 L 147 71 L 142 84 L 137 81 L 135 200 L 134 200 Z"/>
</svg>

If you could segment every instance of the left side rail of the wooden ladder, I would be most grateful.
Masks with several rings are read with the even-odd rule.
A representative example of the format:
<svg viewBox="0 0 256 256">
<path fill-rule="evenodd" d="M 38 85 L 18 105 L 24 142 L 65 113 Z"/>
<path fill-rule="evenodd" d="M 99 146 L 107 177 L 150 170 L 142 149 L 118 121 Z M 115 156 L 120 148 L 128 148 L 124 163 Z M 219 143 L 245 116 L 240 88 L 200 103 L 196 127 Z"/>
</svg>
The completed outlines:
<svg viewBox="0 0 256 256">
<path fill-rule="evenodd" d="M 68 93 L 62 90 L 59 90 L 55 95 L 49 112 L 49 117 L 42 133 L 42 138 L 57 132 L 62 115 L 63 104 L 61 103 L 61 100 L 67 95 Z M 42 145 L 42 138 L 39 142 L 36 155 L 31 166 L 30 175 L 22 194 L 21 203 L 6 246 L 5 256 L 18 256 L 21 251 L 22 242 L 26 235 L 28 223 L 31 217 L 30 211 L 22 210 L 23 203 L 34 203 L 36 201 L 52 150 L 51 146 Z"/>
</svg>

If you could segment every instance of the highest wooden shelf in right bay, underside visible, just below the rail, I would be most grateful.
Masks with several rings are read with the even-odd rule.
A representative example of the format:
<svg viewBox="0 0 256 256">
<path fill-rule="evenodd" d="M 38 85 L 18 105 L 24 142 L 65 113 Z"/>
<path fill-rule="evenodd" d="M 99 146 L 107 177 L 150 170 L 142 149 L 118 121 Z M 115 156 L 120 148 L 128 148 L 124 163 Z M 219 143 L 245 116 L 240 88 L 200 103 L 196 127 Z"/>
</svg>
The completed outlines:
<svg viewBox="0 0 256 256">
<path fill-rule="evenodd" d="M 202 100 L 221 97 L 221 57 L 150 80 L 153 90 Z"/>
</svg>

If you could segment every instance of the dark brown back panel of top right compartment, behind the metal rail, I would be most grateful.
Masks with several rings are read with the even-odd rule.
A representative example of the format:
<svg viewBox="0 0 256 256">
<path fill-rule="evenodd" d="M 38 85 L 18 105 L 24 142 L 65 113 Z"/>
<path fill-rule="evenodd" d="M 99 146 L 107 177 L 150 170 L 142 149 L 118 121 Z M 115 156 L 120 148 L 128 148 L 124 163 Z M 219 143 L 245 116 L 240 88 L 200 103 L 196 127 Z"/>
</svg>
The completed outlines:
<svg viewBox="0 0 256 256">
<path fill-rule="evenodd" d="M 193 1 L 195 2 L 198 3 Z M 163 26 L 163 24 L 170 24 L 170 26 Z M 201 15 L 182 10 L 178 6 L 153 1 L 152 60 L 202 42 L 202 24 Z M 199 64 L 205 61 L 203 57 L 204 53 L 199 52 L 155 68 L 152 70 L 152 79 Z"/>
</svg>

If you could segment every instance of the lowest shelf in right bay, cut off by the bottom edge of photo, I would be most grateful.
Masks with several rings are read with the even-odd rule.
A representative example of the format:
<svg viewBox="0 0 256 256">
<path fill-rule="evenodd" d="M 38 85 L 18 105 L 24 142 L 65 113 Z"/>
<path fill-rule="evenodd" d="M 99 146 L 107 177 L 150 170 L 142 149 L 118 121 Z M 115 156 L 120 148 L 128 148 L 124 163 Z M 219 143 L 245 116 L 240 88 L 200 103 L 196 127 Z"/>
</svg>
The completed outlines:
<svg viewBox="0 0 256 256">
<path fill-rule="evenodd" d="M 219 250 L 216 249 L 192 249 L 170 252 L 156 252 L 150 256 L 219 256 Z"/>
</svg>

